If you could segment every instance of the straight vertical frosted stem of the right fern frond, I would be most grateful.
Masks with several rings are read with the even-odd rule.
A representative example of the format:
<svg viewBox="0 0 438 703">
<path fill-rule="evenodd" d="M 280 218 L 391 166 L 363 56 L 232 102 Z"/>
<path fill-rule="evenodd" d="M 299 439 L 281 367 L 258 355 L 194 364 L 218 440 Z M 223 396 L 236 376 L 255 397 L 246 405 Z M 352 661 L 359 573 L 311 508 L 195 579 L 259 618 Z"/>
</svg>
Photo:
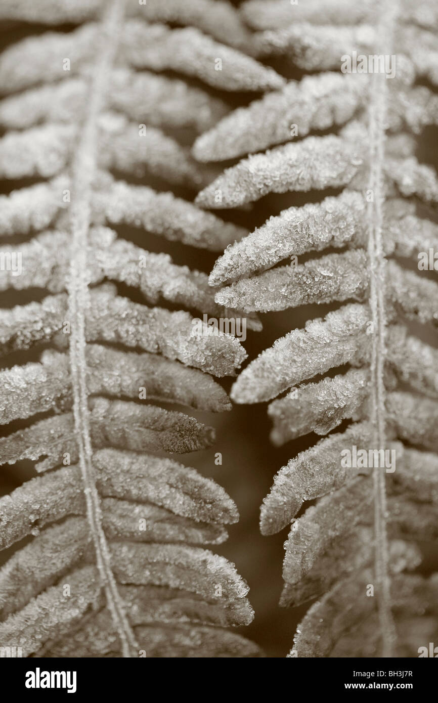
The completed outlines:
<svg viewBox="0 0 438 703">
<path fill-rule="evenodd" d="M 392 8 L 382 21 L 381 28 L 388 33 L 393 22 Z M 368 202 L 368 258 L 370 266 L 370 307 L 373 317 L 373 344 L 371 350 L 371 423 L 374 446 L 385 449 L 385 382 L 386 314 L 385 314 L 385 254 L 382 247 L 383 203 L 385 184 L 383 163 L 385 159 L 385 115 L 387 110 L 387 78 L 380 73 L 371 74 L 371 96 L 368 108 L 370 138 L 369 191 L 373 194 Z M 375 586 L 377 591 L 378 616 L 382 638 L 382 656 L 392 657 L 396 631 L 391 610 L 391 594 L 388 569 L 387 498 L 384 467 L 373 471 L 374 492 L 374 539 L 375 539 Z"/>
</svg>

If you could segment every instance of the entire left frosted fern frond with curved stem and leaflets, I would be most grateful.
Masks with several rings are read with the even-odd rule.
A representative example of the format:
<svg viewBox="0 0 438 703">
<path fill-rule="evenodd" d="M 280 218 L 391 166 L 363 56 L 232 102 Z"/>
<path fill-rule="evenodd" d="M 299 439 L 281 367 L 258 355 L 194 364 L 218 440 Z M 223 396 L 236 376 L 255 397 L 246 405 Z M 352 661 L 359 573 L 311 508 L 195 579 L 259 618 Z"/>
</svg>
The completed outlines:
<svg viewBox="0 0 438 703">
<path fill-rule="evenodd" d="M 0 15 L 65 25 L 27 25 L 0 58 L 0 172 L 23 185 L 1 196 L 0 285 L 35 297 L 0 311 L 1 422 L 19 420 L 0 460 L 33 460 L 39 474 L 0 501 L 0 545 L 15 546 L 0 572 L 0 645 L 36 657 L 257 657 L 226 629 L 252 620 L 247 585 L 203 548 L 224 541 L 236 505 L 165 456 L 210 446 L 214 431 L 159 405 L 230 409 L 212 376 L 236 375 L 245 350 L 228 333 L 193 335 L 179 308 L 238 312 L 214 302 L 205 273 L 114 228 L 214 252 L 246 236 L 138 181 L 193 193 L 218 173 L 170 136 L 228 110 L 184 77 L 223 91 L 284 79 L 220 43 L 249 34 L 226 3 L 4 0 Z M 259 328 L 255 315 L 247 323 Z"/>
</svg>

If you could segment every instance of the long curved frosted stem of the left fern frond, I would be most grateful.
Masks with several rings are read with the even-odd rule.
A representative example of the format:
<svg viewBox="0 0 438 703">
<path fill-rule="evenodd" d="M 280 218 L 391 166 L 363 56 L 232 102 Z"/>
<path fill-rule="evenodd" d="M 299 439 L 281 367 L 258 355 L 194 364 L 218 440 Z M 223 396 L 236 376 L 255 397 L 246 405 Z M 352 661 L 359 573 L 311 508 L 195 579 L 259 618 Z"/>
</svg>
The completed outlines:
<svg viewBox="0 0 438 703">
<path fill-rule="evenodd" d="M 88 110 L 84 118 L 77 152 L 72 163 L 72 195 L 69 213 L 72 233 L 72 255 L 68 282 L 70 336 L 70 367 L 74 394 L 73 413 L 75 435 L 79 449 L 79 465 L 84 482 L 86 516 L 96 550 L 96 563 L 108 609 L 122 643 L 124 657 L 138 650 L 124 603 L 117 590 L 112 573 L 110 551 L 102 527 L 101 501 L 96 489 L 94 468 L 91 462 L 92 447 L 89 428 L 88 391 L 86 387 L 86 337 L 85 313 L 89 308 L 89 281 L 86 276 L 86 250 L 91 223 L 91 188 L 96 174 L 96 142 L 98 116 L 103 108 L 108 74 L 117 50 L 117 34 L 124 15 L 124 0 L 112 0 L 103 18 L 100 37 L 96 46 L 98 61 L 91 80 Z"/>
</svg>

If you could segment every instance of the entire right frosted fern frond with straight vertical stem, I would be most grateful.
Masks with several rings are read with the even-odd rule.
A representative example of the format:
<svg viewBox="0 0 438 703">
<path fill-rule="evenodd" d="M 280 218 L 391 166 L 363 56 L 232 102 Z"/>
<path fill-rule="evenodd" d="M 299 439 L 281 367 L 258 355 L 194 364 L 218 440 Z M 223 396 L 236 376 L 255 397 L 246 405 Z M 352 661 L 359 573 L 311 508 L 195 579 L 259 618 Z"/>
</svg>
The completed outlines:
<svg viewBox="0 0 438 703">
<path fill-rule="evenodd" d="M 433 270 L 438 179 L 414 135 L 438 124 L 437 7 L 249 0 L 242 13 L 257 58 L 309 75 L 197 139 L 202 162 L 244 158 L 195 202 L 329 192 L 229 246 L 210 275 L 225 284 L 216 301 L 342 303 L 276 340 L 231 391 L 237 403 L 288 391 L 269 404 L 273 444 L 327 435 L 279 470 L 261 510 L 263 534 L 292 523 L 281 605 L 314 600 L 288 656 L 423 656 L 438 641 L 438 574 L 419 567 L 419 543 L 437 537 L 438 352 L 424 340 L 438 285 L 420 262 L 427 252 Z"/>
</svg>

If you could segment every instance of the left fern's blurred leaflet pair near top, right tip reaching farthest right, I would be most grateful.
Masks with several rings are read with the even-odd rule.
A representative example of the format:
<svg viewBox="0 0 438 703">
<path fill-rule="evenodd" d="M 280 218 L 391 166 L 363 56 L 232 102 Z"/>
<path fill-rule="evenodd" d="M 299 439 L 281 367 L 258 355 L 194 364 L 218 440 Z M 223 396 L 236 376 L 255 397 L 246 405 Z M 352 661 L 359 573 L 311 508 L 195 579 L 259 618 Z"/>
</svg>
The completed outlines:
<svg viewBox="0 0 438 703">
<path fill-rule="evenodd" d="M 43 81 L 65 78 L 62 61 L 56 60 L 59 56 L 72 57 L 73 74 L 87 74 L 97 36 L 98 25 L 90 22 L 69 34 L 49 32 L 17 42 L 0 58 L 1 92 L 24 90 Z M 16 65 L 18 56 L 21 61 L 33 62 L 31 70 L 25 72 Z M 221 70 L 215 68 L 217 58 L 222 62 Z M 272 68 L 219 44 L 194 27 L 172 30 L 141 20 L 125 22 L 117 64 L 134 69 L 172 70 L 227 91 L 264 91 L 285 84 L 285 79 Z"/>
</svg>

